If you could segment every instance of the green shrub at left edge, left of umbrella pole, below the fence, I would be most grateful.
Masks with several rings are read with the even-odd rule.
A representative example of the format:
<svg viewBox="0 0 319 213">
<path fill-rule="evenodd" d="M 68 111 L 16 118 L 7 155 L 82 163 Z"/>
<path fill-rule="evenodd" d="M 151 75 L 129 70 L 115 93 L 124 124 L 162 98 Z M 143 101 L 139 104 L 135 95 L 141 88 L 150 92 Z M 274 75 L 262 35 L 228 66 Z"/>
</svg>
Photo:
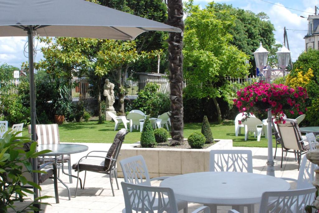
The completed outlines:
<svg viewBox="0 0 319 213">
<path fill-rule="evenodd" d="M 23 106 L 23 101 L 17 94 L 1 94 L 0 96 L 0 115 L 12 124 L 30 122 L 30 110 Z"/>
</svg>

